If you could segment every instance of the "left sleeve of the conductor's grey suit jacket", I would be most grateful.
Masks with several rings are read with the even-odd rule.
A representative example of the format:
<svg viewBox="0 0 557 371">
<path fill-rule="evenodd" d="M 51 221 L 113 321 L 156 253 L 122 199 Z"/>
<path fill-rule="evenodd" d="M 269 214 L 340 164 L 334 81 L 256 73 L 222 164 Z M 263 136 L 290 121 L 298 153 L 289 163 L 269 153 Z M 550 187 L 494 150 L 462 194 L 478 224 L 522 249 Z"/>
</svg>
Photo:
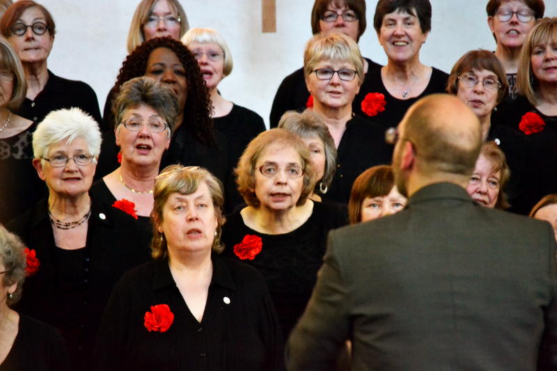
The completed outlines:
<svg viewBox="0 0 557 371">
<path fill-rule="evenodd" d="M 350 317 L 338 232 L 329 234 L 327 254 L 304 315 L 288 340 L 288 370 L 332 370 L 348 339 Z"/>
</svg>

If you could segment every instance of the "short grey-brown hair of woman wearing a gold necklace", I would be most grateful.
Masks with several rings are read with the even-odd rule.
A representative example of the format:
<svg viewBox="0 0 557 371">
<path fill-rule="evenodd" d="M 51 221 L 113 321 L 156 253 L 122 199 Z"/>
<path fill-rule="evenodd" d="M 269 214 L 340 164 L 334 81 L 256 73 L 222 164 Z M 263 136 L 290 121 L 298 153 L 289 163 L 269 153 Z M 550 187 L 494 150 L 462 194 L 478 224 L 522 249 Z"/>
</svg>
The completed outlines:
<svg viewBox="0 0 557 371">
<path fill-rule="evenodd" d="M 122 123 L 125 111 L 141 104 L 157 111 L 168 124 L 168 138 L 178 118 L 178 97 L 172 89 L 151 77 L 135 77 L 126 81 L 112 102 L 114 128 Z"/>
</svg>

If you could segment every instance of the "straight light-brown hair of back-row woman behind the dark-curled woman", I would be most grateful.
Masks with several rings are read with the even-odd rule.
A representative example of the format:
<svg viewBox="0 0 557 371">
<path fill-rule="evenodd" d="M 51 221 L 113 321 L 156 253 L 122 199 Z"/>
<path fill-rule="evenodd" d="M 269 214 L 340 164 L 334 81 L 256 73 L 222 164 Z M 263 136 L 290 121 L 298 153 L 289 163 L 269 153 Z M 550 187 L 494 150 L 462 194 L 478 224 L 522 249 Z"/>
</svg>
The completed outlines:
<svg viewBox="0 0 557 371">
<path fill-rule="evenodd" d="M 139 47 L 141 43 L 145 40 L 145 35 L 143 35 L 143 24 L 147 22 L 148 17 L 151 15 L 152 9 L 155 8 L 159 0 L 141 0 L 135 8 L 134 17 L 132 18 L 132 23 L 130 24 L 130 31 L 127 33 L 127 52 L 131 53 L 136 47 Z M 180 5 L 178 0 L 167 0 L 168 5 L 174 8 L 178 17 L 180 17 L 180 38 L 189 30 L 189 24 L 187 22 L 186 12 L 184 8 Z"/>
</svg>

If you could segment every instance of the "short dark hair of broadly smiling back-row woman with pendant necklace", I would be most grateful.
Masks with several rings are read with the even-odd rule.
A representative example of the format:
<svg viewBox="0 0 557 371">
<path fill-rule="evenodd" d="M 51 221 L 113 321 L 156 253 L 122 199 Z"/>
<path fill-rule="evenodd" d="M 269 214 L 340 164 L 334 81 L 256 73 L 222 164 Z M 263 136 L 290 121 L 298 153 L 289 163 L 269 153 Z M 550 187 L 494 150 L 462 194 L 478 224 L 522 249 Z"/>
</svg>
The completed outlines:
<svg viewBox="0 0 557 371">
<path fill-rule="evenodd" d="M 379 0 L 375 7 L 373 27 L 379 33 L 383 18 L 395 11 L 406 12 L 414 15 L 420 22 L 422 33 L 431 31 L 431 3 L 430 0 Z"/>
</svg>

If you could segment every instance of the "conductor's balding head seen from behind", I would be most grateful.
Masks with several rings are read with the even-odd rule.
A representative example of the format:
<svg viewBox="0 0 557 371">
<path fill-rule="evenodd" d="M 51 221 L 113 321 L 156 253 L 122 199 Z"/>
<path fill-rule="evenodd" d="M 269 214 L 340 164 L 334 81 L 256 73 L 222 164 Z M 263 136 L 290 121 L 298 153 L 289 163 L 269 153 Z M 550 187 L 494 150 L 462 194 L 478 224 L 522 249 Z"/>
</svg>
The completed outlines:
<svg viewBox="0 0 557 371">
<path fill-rule="evenodd" d="M 469 177 L 482 136 L 475 113 L 457 97 L 434 94 L 418 100 L 399 125 L 401 139 L 414 145 L 416 170 Z"/>
</svg>

